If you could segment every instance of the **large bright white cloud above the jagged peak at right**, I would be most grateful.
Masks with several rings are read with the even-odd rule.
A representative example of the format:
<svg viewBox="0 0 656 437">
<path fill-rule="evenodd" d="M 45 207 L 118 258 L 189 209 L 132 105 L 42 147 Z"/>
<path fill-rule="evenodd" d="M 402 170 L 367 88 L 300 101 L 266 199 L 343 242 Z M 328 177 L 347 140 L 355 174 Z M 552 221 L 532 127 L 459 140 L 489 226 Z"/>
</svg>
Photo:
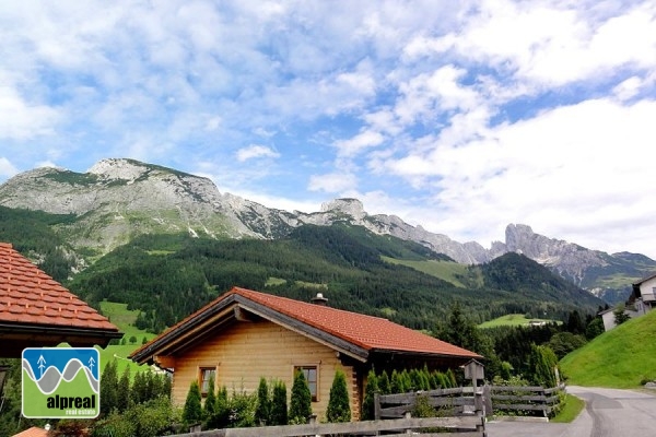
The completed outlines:
<svg viewBox="0 0 656 437">
<path fill-rule="evenodd" d="M 655 179 L 644 156 L 656 138 L 655 111 L 654 101 L 588 101 L 490 129 L 459 146 L 436 142 L 423 155 L 387 165 L 408 180 L 430 181 L 434 200 L 421 215 L 452 237 L 466 229 L 484 243 L 501 238 L 507 223 L 525 223 L 590 248 L 622 250 L 640 241 L 609 240 L 598 229 L 620 236 L 631 223 L 653 223 L 656 204 L 645 199 Z"/>
</svg>

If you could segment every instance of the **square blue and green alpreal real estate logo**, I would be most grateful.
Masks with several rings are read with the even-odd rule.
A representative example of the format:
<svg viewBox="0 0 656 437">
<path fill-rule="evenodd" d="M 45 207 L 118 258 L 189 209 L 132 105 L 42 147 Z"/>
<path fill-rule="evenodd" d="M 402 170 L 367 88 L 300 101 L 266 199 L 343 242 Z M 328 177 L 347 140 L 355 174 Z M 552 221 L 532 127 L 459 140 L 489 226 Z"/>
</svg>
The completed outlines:
<svg viewBox="0 0 656 437">
<path fill-rule="evenodd" d="M 95 418 L 101 412 L 101 355 L 93 347 L 23 350 L 23 415 Z"/>
</svg>

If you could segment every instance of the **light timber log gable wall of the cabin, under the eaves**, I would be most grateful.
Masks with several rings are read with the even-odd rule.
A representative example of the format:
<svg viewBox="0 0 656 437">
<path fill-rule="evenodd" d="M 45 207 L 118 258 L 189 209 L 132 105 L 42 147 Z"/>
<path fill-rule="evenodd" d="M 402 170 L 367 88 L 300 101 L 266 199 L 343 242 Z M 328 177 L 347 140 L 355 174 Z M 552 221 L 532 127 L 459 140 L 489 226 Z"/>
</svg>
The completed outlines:
<svg viewBox="0 0 656 437">
<path fill-rule="evenodd" d="M 177 405 L 184 405 L 191 381 L 199 379 L 200 368 L 215 368 L 216 387 L 225 386 L 229 393 L 233 388 L 257 392 L 260 377 L 268 381 L 279 379 L 286 385 L 289 402 L 294 368 L 316 366 L 317 401 L 312 403 L 312 409 L 317 418 L 324 421 L 326 417 L 337 369 L 347 377 L 353 420 L 360 417 L 359 400 L 362 397 L 353 367 L 342 364 L 335 350 L 268 320 L 235 322 L 177 355 L 175 362 L 172 395 Z"/>
</svg>

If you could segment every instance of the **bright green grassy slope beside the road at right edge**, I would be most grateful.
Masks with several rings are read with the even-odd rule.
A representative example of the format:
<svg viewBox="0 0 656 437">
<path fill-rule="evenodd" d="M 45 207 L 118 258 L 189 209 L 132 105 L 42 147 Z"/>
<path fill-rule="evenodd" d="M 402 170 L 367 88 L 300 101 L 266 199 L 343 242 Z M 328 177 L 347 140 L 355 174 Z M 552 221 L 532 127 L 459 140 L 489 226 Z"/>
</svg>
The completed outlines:
<svg viewBox="0 0 656 437">
<path fill-rule="evenodd" d="M 561 361 L 567 383 L 637 388 L 656 379 L 656 311 L 617 327 Z"/>
</svg>

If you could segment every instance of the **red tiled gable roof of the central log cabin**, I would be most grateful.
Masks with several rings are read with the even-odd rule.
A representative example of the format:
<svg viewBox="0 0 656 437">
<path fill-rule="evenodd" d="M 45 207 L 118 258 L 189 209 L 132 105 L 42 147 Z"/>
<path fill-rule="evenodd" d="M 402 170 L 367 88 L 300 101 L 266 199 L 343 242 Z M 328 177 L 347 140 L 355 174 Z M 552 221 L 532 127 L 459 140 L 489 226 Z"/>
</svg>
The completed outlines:
<svg viewBox="0 0 656 437">
<path fill-rule="evenodd" d="M 231 296 L 242 296 L 247 300 L 291 317 L 367 352 L 401 352 L 481 358 L 480 355 L 471 351 L 455 346 L 380 317 L 345 311 L 241 287 L 233 287 L 230 292 L 207 304 L 198 311 L 167 329 L 157 338 L 132 352 L 130 356 L 140 361 L 145 357 L 145 354 L 148 354 L 147 351 L 151 349 L 151 345 L 157 349 L 159 345 L 163 345 L 162 342 L 168 342 L 167 338 L 174 341 L 176 331 L 181 330 L 184 326 L 201 317 L 206 311 L 210 311 Z"/>
</svg>

